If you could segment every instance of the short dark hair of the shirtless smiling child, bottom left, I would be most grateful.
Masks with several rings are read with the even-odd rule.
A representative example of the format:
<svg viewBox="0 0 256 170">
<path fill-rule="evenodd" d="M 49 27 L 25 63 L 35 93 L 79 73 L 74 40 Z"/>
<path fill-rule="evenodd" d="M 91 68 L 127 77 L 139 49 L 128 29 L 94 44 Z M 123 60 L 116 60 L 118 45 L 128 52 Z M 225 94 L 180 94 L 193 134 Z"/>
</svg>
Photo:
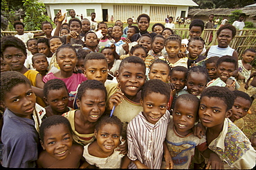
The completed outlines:
<svg viewBox="0 0 256 170">
<path fill-rule="evenodd" d="M 65 125 L 68 127 L 68 130 L 70 131 L 71 135 L 73 134 L 71 124 L 69 123 L 68 119 L 61 115 L 53 115 L 49 116 L 48 118 L 44 119 L 42 124 L 39 127 L 39 137 L 44 142 L 44 135 L 46 129 L 49 129 L 50 127 L 53 127 L 55 125 Z"/>
</svg>

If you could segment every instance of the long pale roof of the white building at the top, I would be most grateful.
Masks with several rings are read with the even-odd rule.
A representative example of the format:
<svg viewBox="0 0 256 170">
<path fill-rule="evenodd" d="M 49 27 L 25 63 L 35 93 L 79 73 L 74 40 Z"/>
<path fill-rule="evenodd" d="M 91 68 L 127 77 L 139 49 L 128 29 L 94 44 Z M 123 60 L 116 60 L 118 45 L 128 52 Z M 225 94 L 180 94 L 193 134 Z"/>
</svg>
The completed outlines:
<svg viewBox="0 0 256 170">
<path fill-rule="evenodd" d="M 169 6 L 198 6 L 192 0 L 40 0 L 45 4 L 53 3 L 116 3 L 116 4 L 149 4 L 149 5 L 169 5 Z"/>
</svg>

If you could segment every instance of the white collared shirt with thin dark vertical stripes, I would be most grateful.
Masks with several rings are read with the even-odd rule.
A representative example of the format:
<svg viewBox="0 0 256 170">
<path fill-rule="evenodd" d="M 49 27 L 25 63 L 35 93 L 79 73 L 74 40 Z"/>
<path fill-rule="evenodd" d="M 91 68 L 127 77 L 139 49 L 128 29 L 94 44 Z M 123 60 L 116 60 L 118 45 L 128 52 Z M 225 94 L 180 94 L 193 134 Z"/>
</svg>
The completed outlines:
<svg viewBox="0 0 256 170">
<path fill-rule="evenodd" d="M 170 112 L 165 114 L 154 125 L 149 123 L 140 112 L 127 126 L 128 154 L 131 160 L 139 160 L 149 169 L 160 169 L 163 158 L 163 142 L 165 141 Z M 129 169 L 136 169 L 131 162 Z"/>
</svg>

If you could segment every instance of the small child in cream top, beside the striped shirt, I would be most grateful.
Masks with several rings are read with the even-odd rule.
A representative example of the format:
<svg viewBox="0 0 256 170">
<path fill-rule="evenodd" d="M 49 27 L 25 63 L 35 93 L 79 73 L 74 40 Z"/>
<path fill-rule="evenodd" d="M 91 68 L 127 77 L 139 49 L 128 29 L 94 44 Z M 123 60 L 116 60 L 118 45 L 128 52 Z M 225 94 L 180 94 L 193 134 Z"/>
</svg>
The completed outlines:
<svg viewBox="0 0 256 170">
<path fill-rule="evenodd" d="M 106 114 L 95 125 L 96 140 L 84 146 L 86 162 L 100 169 L 120 169 L 124 154 L 116 151 L 121 143 L 122 122 L 116 116 Z M 85 167 L 83 167 L 85 168 Z"/>
</svg>

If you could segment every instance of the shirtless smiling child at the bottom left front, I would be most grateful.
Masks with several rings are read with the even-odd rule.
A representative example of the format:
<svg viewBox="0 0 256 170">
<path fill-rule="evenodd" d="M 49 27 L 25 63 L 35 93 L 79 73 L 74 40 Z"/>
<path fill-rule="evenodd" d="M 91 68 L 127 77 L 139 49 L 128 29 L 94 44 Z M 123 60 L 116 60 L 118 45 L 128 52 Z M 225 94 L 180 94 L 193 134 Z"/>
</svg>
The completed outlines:
<svg viewBox="0 0 256 170">
<path fill-rule="evenodd" d="M 39 136 L 44 150 L 39 153 L 37 168 L 79 168 L 84 162 L 83 147 L 73 143 L 71 124 L 63 116 L 46 118 Z"/>
</svg>

